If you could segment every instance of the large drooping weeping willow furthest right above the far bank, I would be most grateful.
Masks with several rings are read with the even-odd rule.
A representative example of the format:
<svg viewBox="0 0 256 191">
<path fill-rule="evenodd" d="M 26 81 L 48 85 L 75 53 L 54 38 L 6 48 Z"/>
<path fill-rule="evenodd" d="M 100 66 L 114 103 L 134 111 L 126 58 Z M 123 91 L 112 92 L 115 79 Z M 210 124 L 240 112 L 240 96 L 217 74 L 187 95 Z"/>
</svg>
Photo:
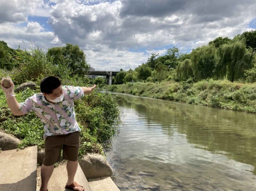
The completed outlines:
<svg viewBox="0 0 256 191">
<path fill-rule="evenodd" d="M 253 49 L 246 48 L 245 39 L 220 46 L 215 76 L 228 80 L 245 79 L 244 70 L 252 68 Z"/>
</svg>

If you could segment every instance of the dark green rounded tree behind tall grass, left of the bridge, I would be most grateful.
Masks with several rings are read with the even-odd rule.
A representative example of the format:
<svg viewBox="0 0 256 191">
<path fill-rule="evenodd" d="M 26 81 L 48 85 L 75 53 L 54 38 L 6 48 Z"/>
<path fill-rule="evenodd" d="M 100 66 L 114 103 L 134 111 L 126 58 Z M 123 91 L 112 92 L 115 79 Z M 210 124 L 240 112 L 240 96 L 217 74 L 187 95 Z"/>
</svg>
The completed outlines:
<svg viewBox="0 0 256 191">
<path fill-rule="evenodd" d="M 72 70 L 72 74 L 84 76 L 90 69 L 90 65 L 86 63 L 86 55 L 78 45 L 66 43 L 65 47 L 53 47 L 47 51 L 47 56 L 50 56 L 54 64 L 63 61 L 68 64 Z"/>
</svg>

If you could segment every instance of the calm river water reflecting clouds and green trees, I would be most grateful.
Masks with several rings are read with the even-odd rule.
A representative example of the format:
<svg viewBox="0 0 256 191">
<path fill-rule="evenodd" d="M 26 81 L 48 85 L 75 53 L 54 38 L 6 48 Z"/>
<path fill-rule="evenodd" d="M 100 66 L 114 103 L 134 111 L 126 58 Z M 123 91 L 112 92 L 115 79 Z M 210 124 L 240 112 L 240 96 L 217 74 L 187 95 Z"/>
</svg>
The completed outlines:
<svg viewBox="0 0 256 191">
<path fill-rule="evenodd" d="M 127 94 L 108 153 L 119 189 L 256 190 L 255 114 Z"/>
</svg>

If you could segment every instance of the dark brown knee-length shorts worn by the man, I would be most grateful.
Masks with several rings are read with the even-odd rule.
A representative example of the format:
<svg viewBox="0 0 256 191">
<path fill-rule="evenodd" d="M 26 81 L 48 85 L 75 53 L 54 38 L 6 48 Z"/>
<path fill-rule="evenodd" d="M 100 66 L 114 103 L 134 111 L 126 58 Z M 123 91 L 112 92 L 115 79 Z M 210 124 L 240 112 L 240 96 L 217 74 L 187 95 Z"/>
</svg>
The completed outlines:
<svg viewBox="0 0 256 191">
<path fill-rule="evenodd" d="M 80 143 L 78 131 L 66 135 L 48 136 L 44 141 L 43 165 L 51 166 L 60 161 L 61 148 L 63 159 L 77 161 Z"/>
</svg>

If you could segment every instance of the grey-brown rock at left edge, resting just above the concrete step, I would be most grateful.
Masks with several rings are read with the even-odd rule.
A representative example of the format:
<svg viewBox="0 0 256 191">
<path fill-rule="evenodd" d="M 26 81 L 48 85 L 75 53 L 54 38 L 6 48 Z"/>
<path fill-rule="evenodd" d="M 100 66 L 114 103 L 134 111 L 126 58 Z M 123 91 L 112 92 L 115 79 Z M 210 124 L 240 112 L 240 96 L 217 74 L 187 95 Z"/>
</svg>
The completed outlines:
<svg viewBox="0 0 256 191">
<path fill-rule="evenodd" d="M 0 148 L 2 151 L 17 149 L 20 139 L 0 132 Z"/>
</svg>

